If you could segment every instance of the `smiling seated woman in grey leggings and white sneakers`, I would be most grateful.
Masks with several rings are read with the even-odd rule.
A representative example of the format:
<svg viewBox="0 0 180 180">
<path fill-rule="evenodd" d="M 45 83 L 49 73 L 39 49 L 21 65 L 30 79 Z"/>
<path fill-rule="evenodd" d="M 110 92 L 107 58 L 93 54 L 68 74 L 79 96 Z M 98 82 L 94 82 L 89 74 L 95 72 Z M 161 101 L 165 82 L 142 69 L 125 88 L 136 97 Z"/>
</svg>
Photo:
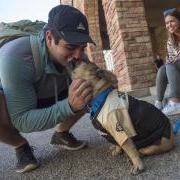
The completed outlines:
<svg viewBox="0 0 180 180">
<path fill-rule="evenodd" d="M 180 109 L 180 11 L 176 8 L 164 11 L 166 29 L 168 31 L 167 59 L 156 77 L 157 100 L 155 106 L 166 115 Z M 169 101 L 163 108 L 162 100 L 169 83 Z"/>
</svg>

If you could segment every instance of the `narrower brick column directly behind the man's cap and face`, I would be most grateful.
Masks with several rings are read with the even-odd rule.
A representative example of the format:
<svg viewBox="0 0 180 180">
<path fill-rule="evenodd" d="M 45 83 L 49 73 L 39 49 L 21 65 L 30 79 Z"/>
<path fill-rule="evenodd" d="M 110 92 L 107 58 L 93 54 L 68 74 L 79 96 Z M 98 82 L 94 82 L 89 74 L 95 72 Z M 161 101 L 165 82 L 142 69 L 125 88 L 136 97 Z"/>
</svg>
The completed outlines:
<svg viewBox="0 0 180 180">
<path fill-rule="evenodd" d="M 92 0 L 74 0 L 73 6 L 83 12 L 89 23 L 89 31 L 96 46 L 88 44 L 87 54 L 90 61 L 95 62 L 101 68 L 105 68 L 105 61 L 102 48 L 102 40 L 100 36 L 98 1 Z"/>
</svg>

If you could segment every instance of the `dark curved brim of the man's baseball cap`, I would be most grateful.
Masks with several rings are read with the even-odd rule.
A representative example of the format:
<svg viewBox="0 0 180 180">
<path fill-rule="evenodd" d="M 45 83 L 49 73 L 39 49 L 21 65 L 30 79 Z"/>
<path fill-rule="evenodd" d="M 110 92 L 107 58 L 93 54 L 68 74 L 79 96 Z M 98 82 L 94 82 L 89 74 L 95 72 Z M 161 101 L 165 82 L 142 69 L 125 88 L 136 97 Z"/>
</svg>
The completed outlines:
<svg viewBox="0 0 180 180">
<path fill-rule="evenodd" d="M 91 39 L 91 37 L 84 33 L 79 32 L 63 32 L 63 38 L 70 44 L 82 44 L 82 43 L 96 43 Z"/>
</svg>

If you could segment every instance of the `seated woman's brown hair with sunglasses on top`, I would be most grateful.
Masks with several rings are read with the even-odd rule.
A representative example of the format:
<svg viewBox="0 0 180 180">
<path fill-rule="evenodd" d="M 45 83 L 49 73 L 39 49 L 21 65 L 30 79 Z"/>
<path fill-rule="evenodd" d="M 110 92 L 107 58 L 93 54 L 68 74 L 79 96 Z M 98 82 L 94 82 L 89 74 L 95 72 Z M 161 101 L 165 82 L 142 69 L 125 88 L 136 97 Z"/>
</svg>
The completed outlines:
<svg viewBox="0 0 180 180">
<path fill-rule="evenodd" d="M 166 18 L 166 16 L 173 16 L 180 22 L 180 11 L 176 8 L 167 9 L 163 12 L 163 14 L 164 14 L 164 18 Z M 180 26 L 179 26 L 179 28 L 180 28 Z M 177 41 L 176 35 L 168 32 L 168 36 L 169 36 L 169 40 L 171 41 L 172 45 L 174 47 L 177 47 L 178 41 Z"/>
</svg>

